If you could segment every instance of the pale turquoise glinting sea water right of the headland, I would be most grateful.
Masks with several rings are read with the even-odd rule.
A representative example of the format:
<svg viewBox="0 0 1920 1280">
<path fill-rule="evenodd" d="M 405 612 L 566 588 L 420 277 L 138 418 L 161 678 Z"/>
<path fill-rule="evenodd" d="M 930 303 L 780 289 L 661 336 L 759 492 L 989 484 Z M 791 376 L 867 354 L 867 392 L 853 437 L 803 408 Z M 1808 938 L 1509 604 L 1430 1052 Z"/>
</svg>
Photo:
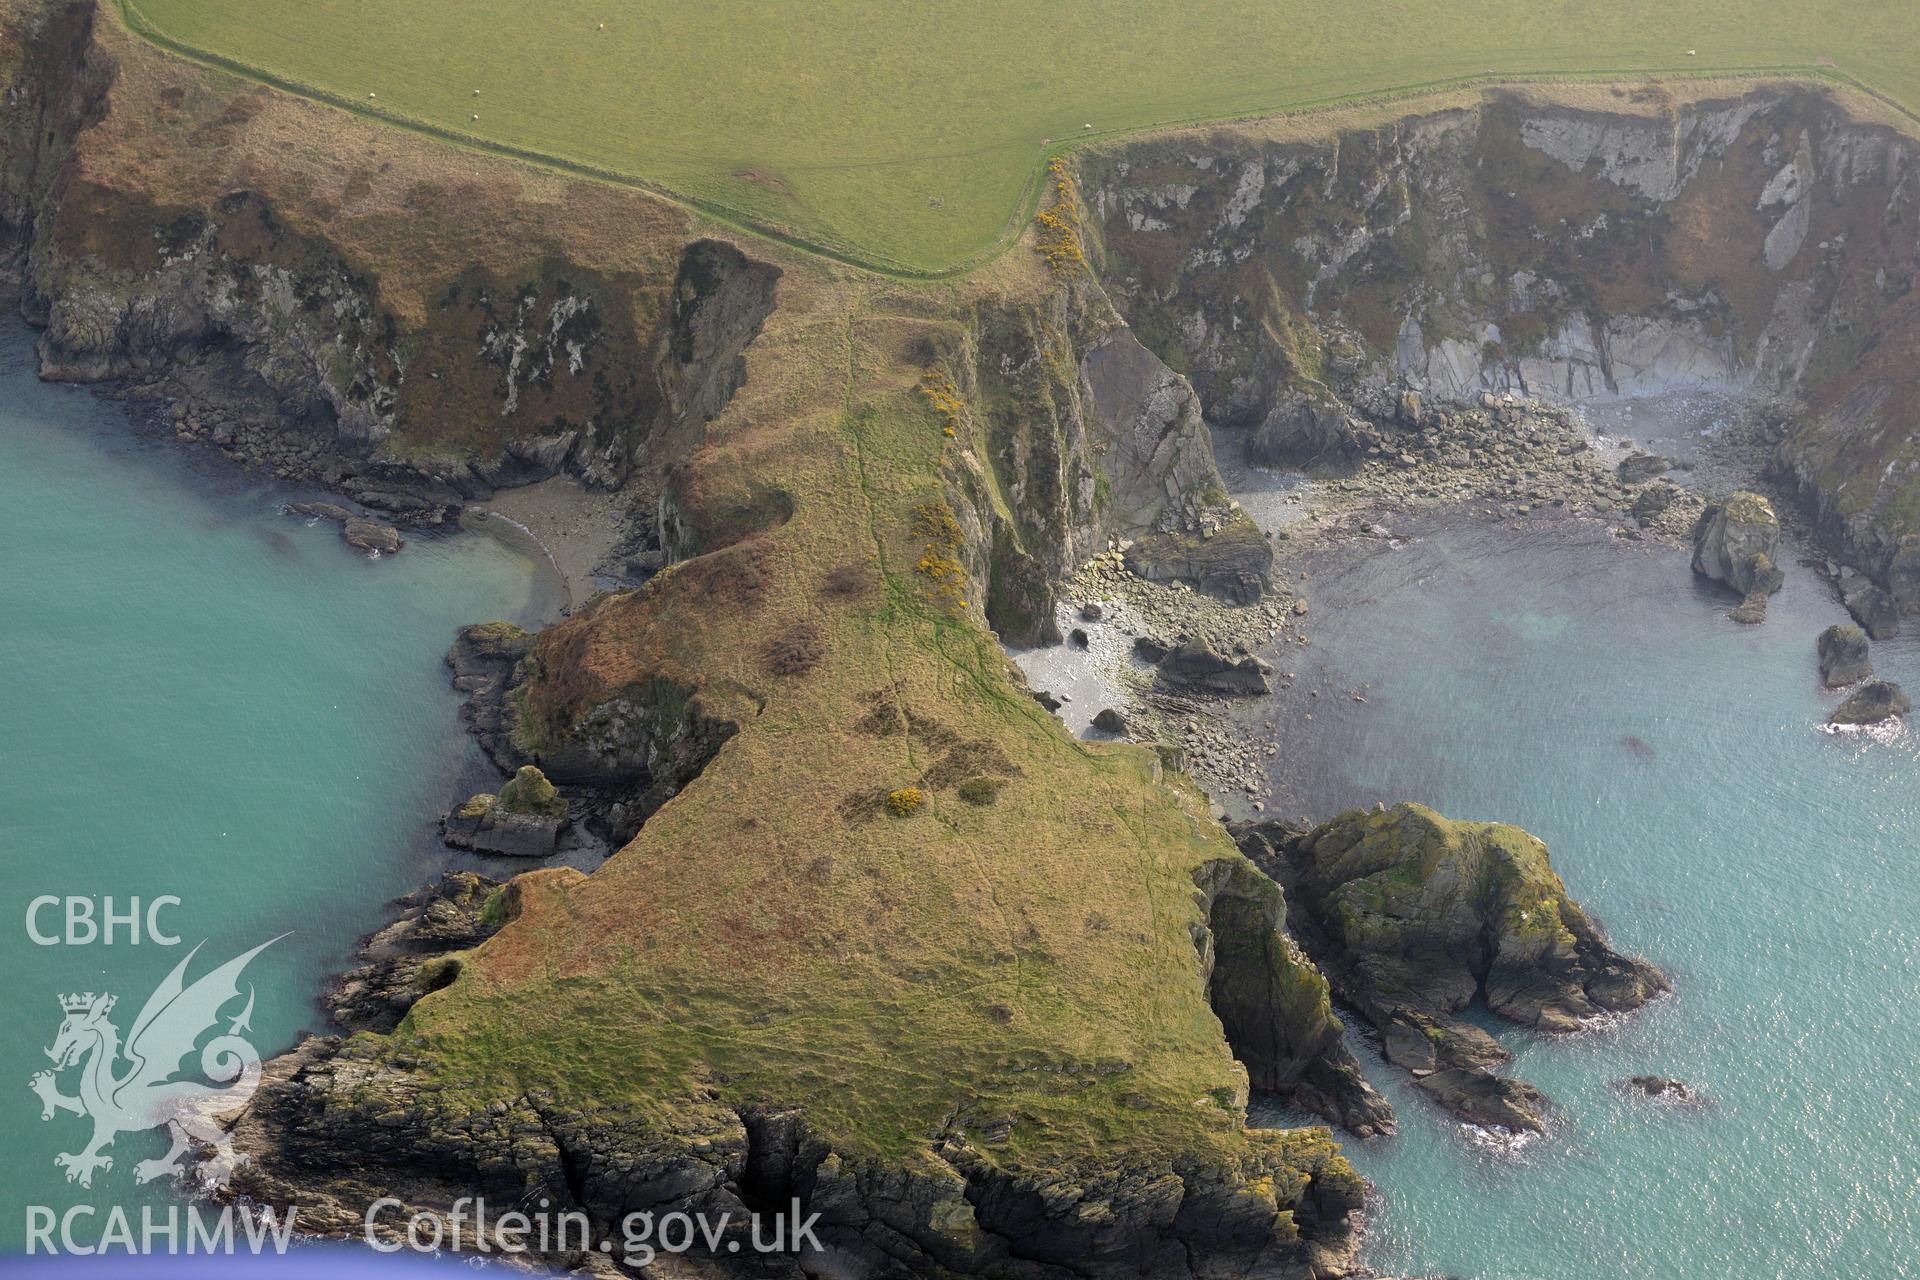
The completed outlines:
<svg viewBox="0 0 1920 1280">
<path fill-rule="evenodd" d="M 1615 946 L 1674 981 L 1605 1029 L 1496 1032 L 1557 1103 L 1521 1150 L 1475 1142 L 1361 1048 L 1400 1113 L 1400 1136 L 1348 1144 L 1380 1192 L 1365 1259 L 1476 1280 L 1920 1274 L 1920 747 L 1820 731 L 1839 699 L 1814 637 L 1845 614 L 1814 572 L 1789 564 L 1743 628 L 1684 551 L 1461 524 L 1329 553 L 1306 593 L 1311 645 L 1277 658 L 1298 679 L 1258 716 L 1283 725 L 1271 812 L 1415 798 L 1521 823 Z M 1920 689 L 1912 631 L 1874 664 Z M 1628 1096 L 1642 1073 L 1707 1102 Z"/>
</svg>

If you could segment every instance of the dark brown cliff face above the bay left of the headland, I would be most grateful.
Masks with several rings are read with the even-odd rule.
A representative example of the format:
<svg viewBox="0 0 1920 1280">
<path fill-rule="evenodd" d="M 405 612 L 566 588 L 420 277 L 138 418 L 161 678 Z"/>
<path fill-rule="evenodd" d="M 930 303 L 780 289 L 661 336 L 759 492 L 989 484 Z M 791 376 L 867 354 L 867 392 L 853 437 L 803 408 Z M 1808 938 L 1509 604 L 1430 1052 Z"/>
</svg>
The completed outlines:
<svg viewBox="0 0 1920 1280">
<path fill-rule="evenodd" d="M 741 384 L 780 271 L 737 248 L 609 271 L 564 226 L 503 244 L 536 200 L 405 177 L 378 146 L 349 175 L 324 138 L 275 155 L 263 90 L 142 63 L 115 94 L 92 4 L 10 10 L 0 269 L 44 376 L 132 384 L 182 434 L 420 522 L 551 474 L 653 476 Z"/>
</svg>

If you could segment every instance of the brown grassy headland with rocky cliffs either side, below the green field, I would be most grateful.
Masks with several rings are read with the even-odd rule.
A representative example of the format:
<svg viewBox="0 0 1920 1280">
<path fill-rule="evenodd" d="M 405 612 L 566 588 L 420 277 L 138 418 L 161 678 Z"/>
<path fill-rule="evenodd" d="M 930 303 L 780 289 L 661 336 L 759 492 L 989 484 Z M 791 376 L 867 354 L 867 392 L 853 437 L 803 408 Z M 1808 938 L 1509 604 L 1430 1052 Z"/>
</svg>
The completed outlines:
<svg viewBox="0 0 1920 1280">
<path fill-rule="evenodd" d="M 453 652 L 490 754 L 618 852 L 422 889 L 271 1063 L 236 1188 L 317 1230 L 380 1196 L 609 1230 L 799 1199 L 831 1257 L 755 1265 L 1344 1274 L 1365 1188 L 1331 1132 L 1246 1123 L 1260 1088 L 1390 1130 L 1329 977 L 1442 1105 L 1524 1126 L 1459 1007 L 1553 1031 L 1665 984 L 1536 841 L 1404 806 L 1248 858 L 1177 747 L 1073 739 L 1002 654 L 1060 639 L 1096 557 L 1271 616 L 1210 422 L 1405 501 L 1626 516 L 1642 486 L 1574 486 L 1482 391 L 1764 391 L 1780 484 L 1920 612 L 1912 152 L 1812 90 L 1150 138 L 1054 167 L 1020 249 L 918 286 L 198 69 L 92 4 L 0 0 L 0 263 L 46 376 L 403 530 L 551 476 L 636 512 L 645 585 Z"/>
</svg>

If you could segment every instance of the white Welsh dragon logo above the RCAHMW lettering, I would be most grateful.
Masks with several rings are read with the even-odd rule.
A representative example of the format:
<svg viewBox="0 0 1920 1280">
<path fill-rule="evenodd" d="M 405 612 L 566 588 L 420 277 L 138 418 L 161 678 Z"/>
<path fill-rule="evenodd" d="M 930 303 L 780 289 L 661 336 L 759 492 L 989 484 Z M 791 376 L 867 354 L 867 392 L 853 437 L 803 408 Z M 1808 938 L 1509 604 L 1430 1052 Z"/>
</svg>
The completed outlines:
<svg viewBox="0 0 1920 1280">
<path fill-rule="evenodd" d="M 54 1157 L 54 1163 L 67 1171 L 67 1182 L 92 1186 L 96 1169 L 111 1171 L 113 1157 L 100 1151 L 113 1146 L 117 1134 L 165 1125 L 173 1146 L 159 1159 L 134 1165 L 138 1182 L 186 1173 L 179 1159 L 200 1144 L 213 1148 L 202 1176 L 227 1184 L 234 1171 L 234 1150 L 217 1117 L 246 1105 L 259 1086 L 259 1054 L 240 1036 L 242 1031 L 252 1031 L 248 1025 L 253 1015 L 252 986 L 246 992 L 246 1007 L 232 1019 L 227 1034 L 213 1036 L 200 1050 L 200 1071 L 213 1084 L 175 1080 L 173 1075 L 180 1071 L 180 1059 L 194 1052 L 200 1036 L 221 1021 L 221 1007 L 240 996 L 240 971 L 278 940 L 261 942 L 188 986 L 182 979 L 186 965 L 200 954 L 196 946 L 148 996 L 140 1017 L 132 1019 L 125 1046 L 119 1029 L 108 1021 L 113 996 L 86 992 L 60 998 L 67 1017 L 60 1023 L 54 1048 L 46 1050 L 54 1069 L 36 1073 L 29 1086 L 40 1096 L 42 1121 L 54 1119 L 56 1111 L 73 1111 L 94 1121 L 92 1142 L 71 1155 Z M 119 1069 L 121 1059 L 127 1061 L 125 1069 Z M 81 1069 L 81 1082 L 79 1096 L 69 1098 L 60 1092 L 58 1075 L 73 1065 Z"/>
</svg>

